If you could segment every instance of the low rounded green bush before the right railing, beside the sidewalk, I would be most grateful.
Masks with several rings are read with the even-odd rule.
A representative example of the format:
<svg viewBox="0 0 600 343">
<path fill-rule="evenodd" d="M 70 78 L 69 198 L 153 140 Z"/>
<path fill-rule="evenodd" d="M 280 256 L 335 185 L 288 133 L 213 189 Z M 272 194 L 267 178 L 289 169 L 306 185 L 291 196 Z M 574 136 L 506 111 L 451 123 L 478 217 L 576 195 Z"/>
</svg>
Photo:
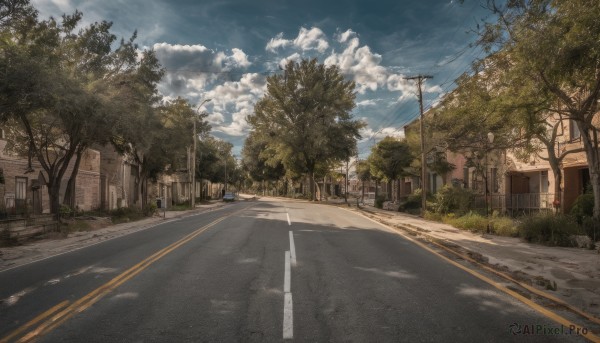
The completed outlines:
<svg viewBox="0 0 600 343">
<path fill-rule="evenodd" d="M 555 246 L 572 246 L 571 236 L 583 231 L 573 217 L 547 212 L 526 217 L 518 230 L 527 242 Z"/>
</svg>

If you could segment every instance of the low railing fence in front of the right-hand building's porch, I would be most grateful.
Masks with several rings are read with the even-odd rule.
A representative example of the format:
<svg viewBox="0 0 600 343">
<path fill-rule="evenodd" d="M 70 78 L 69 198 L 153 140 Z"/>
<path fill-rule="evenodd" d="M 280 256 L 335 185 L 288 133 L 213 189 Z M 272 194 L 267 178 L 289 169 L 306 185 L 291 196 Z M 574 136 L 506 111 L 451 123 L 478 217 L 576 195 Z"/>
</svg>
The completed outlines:
<svg viewBox="0 0 600 343">
<path fill-rule="evenodd" d="M 551 211 L 554 194 L 552 193 L 523 193 L 523 194 L 492 194 L 488 195 L 488 207 L 492 211 L 512 216 L 529 214 L 540 211 Z M 474 207 L 485 209 L 485 197 L 475 197 Z"/>
</svg>

